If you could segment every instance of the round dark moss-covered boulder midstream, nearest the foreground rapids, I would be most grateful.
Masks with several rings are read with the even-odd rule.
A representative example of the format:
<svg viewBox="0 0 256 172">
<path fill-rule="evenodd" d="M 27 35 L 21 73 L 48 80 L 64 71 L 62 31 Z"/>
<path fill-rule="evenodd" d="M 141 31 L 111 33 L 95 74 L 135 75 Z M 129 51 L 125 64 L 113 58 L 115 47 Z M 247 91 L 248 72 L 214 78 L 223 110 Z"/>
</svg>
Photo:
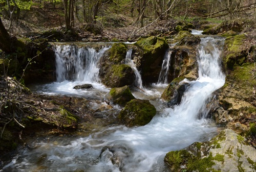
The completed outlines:
<svg viewBox="0 0 256 172">
<path fill-rule="evenodd" d="M 129 127 L 144 126 L 156 115 L 156 108 L 148 100 L 133 99 L 126 103 L 118 115 L 121 122 Z"/>
</svg>

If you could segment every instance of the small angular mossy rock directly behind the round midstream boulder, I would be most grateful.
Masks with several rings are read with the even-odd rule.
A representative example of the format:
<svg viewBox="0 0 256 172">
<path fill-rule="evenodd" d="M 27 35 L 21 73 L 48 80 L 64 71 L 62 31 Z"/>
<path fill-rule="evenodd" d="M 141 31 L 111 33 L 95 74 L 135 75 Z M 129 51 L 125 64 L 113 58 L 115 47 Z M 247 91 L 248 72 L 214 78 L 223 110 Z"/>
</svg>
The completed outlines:
<svg viewBox="0 0 256 172">
<path fill-rule="evenodd" d="M 125 85 L 123 87 L 112 88 L 110 90 L 111 99 L 113 100 L 114 104 L 118 104 L 121 106 L 125 106 L 127 102 L 135 99 L 133 94 L 130 91 L 130 88 Z"/>
</svg>

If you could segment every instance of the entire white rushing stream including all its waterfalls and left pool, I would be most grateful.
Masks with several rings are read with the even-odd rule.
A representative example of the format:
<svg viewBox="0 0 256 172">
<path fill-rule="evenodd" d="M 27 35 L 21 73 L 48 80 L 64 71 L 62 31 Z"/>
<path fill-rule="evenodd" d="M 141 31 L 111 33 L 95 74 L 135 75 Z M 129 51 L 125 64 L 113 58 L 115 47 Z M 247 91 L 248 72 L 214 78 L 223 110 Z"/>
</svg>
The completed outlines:
<svg viewBox="0 0 256 172">
<path fill-rule="evenodd" d="M 157 109 L 149 124 L 133 128 L 109 126 L 87 137 L 56 136 L 50 141 L 46 137 L 34 138 L 36 149 L 19 150 L 0 171 L 170 171 L 163 162 L 166 153 L 196 141 L 207 141 L 217 134 L 214 121 L 207 118 L 206 105 L 214 97 L 212 93 L 225 83 L 220 59 L 222 45 L 223 39 L 201 38 L 197 57 L 199 78 L 181 81 L 189 86 L 180 105 L 172 108 L 160 99 L 167 85 L 166 73 L 163 75 L 168 72 L 167 68 L 162 66 L 164 71 L 158 83 L 147 86 L 142 85 L 137 71 L 135 83 L 145 92 L 133 89 L 132 93 L 137 99 L 150 100 Z M 35 85 L 31 89 L 43 94 L 82 96 L 103 102 L 110 89 L 100 83 L 97 62 L 110 47 L 102 46 L 96 51 L 89 46 L 56 44 L 56 82 Z M 129 51 L 126 64 L 133 65 L 129 56 L 132 50 Z M 168 65 L 168 59 L 164 63 Z M 92 84 L 94 89 L 73 89 L 84 83 Z M 114 108 L 120 110 L 119 106 Z"/>
</svg>

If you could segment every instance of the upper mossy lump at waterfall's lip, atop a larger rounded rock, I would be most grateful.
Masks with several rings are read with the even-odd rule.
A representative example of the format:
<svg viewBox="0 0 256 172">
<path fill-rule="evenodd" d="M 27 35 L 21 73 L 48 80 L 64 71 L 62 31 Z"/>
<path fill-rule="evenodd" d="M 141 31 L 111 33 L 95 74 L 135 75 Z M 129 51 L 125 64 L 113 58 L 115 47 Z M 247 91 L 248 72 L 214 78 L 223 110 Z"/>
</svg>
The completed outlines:
<svg viewBox="0 0 256 172">
<path fill-rule="evenodd" d="M 114 64 L 119 64 L 125 59 L 126 52 L 127 46 L 124 43 L 114 43 L 109 52 L 110 60 Z"/>
</svg>

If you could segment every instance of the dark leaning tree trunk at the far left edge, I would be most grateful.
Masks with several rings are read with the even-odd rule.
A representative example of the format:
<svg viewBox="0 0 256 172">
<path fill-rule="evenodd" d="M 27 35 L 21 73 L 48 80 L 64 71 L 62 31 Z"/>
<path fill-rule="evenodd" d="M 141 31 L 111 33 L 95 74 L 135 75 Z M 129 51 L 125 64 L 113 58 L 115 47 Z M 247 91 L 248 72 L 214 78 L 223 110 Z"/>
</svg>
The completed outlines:
<svg viewBox="0 0 256 172">
<path fill-rule="evenodd" d="M 5 29 L 2 19 L 0 17 L 0 49 L 3 52 L 11 53 L 12 52 L 11 42 L 12 42 L 11 37 L 8 34 L 7 30 Z"/>
</svg>

